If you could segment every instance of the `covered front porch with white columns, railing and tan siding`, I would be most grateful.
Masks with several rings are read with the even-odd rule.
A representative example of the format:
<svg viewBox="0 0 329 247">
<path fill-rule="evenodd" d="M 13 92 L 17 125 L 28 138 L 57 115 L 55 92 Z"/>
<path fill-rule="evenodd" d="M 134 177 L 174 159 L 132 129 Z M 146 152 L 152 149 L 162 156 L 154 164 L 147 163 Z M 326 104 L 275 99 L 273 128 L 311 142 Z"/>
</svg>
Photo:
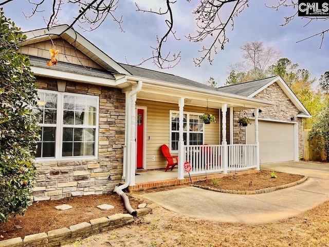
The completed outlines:
<svg viewBox="0 0 329 247">
<path fill-rule="evenodd" d="M 258 114 L 260 107 L 269 105 L 271 103 L 264 100 L 215 89 L 183 89 L 140 80 L 137 87 L 126 90 L 125 183 L 133 190 L 143 183 L 159 187 L 188 183 L 189 174 L 184 170 L 186 162 L 192 167 L 192 181 L 260 169 Z M 253 110 L 255 143 L 234 143 L 237 127 L 234 112 L 247 109 Z M 198 116 L 208 110 L 216 116 L 217 123 L 206 125 L 200 121 Z M 141 126 L 143 129 L 139 131 Z M 160 151 L 163 144 L 170 148 L 172 155 L 178 156 L 178 165 L 173 171 L 164 171 L 167 162 Z M 141 146 L 143 149 L 138 150 Z"/>
</svg>

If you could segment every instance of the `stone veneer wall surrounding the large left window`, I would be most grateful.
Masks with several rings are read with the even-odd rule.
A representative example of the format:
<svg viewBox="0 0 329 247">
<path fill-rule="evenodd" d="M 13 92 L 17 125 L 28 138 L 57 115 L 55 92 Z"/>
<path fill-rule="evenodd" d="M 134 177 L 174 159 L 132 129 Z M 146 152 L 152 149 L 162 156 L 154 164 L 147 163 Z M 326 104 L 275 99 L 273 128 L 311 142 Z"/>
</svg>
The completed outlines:
<svg viewBox="0 0 329 247">
<path fill-rule="evenodd" d="M 39 89 L 57 91 L 56 79 L 36 78 L 36 81 Z M 98 158 L 36 162 L 38 176 L 33 201 L 101 194 L 113 191 L 121 182 L 125 95 L 120 89 L 69 81 L 65 92 L 99 96 Z"/>
</svg>

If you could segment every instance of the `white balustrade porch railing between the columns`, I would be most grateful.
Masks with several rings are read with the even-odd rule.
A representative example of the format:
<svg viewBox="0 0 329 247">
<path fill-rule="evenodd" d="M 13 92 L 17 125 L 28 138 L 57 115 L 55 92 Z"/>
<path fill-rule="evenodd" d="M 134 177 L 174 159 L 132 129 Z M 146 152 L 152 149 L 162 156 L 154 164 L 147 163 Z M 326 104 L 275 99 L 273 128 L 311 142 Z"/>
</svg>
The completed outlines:
<svg viewBox="0 0 329 247">
<path fill-rule="evenodd" d="M 256 145 L 227 145 L 227 170 L 245 170 L 256 168 Z M 184 163 L 189 162 L 191 175 L 206 172 L 223 172 L 225 164 L 223 145 L 184 146 Z"/>
</svg>

